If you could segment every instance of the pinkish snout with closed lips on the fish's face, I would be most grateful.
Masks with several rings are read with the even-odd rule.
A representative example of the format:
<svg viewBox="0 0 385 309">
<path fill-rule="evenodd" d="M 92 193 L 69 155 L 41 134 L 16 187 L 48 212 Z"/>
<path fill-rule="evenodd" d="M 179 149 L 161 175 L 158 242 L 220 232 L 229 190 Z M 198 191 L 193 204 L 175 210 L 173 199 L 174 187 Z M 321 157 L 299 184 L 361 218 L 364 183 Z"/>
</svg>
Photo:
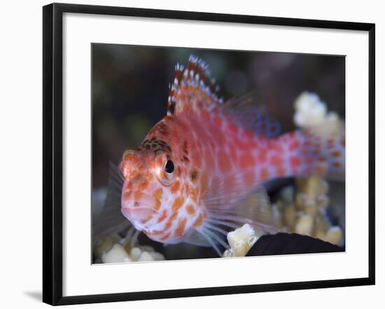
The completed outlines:
<svg viewBox="0 0 385 309">
<path fill-rule="evenodd" d="M 124 192 L 122 194 L 122 213 L 132 223 L 144 222 L 155 213 L 157 199 L 145 192 Z"/>
</svg>

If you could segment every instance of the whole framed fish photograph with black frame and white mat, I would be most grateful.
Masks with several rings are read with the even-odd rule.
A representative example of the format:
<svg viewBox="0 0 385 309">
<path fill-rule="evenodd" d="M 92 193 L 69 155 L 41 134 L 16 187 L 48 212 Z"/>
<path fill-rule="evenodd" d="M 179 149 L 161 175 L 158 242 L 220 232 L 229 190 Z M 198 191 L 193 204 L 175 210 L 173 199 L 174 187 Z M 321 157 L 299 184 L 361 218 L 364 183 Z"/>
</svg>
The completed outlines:
<svg viewBox="0 0 385 309">
<path fill-rule="evenodd" d="M 374 285 L 374 29 L 44 6 L 43 301 Z"/>
</svg>

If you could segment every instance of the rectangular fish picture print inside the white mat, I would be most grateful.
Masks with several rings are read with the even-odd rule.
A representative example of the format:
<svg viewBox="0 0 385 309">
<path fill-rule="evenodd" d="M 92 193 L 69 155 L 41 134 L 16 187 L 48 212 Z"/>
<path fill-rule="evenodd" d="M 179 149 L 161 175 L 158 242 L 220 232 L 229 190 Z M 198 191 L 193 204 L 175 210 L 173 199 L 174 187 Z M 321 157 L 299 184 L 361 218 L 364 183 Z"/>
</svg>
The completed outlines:
<svg viewBox="0 0 385 309">
<path fill-rule="evenodd" d="M 92 43 L 92 263 L 345 247 L 345 57 Z"/>
</svg>

